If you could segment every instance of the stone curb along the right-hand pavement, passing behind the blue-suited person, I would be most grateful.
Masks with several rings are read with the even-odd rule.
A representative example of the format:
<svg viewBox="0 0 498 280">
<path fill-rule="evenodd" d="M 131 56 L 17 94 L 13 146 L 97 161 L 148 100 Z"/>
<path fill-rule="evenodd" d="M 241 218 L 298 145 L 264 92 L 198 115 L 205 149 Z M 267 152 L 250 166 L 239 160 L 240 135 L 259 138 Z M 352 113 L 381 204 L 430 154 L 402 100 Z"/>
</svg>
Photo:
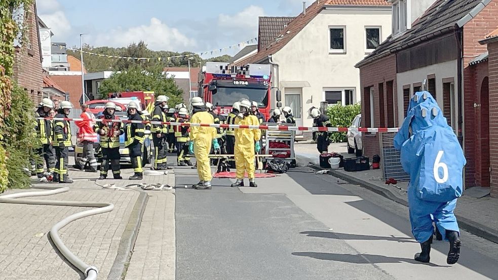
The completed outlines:
<svg viewBox="0 0 498 280">
<path fill-rule="evenodd" d="M 313 168 L 317 169 L 316 166 L 314 166 Z M 353 183 L 355 185 L 359 185 L 363 188 L 371 190 L 371 191 L 373 191 L 377 194 L 380 194 L 380 195 L 382 195 L 382 196 L 384 196 L 384 197 L 386 197 L 386 198 L 388 198 L 396 203 L 399 203 L 403 206 L 408 207 L 408 202 L 405 201 L 405 199 L 398 197 L 396 194 L 394 194 L 389 189 L 379 187 L 373 183 L 357 179 L 354 176 L 343 174 L 343 173 L 337 172 L 335 170 L 330 170 L 329 174 L 334 176 L 334 177 L 337 177 L 341 180 L 348 181 L 348 182 Z M 491 242 L 498 243 L 498 230 L 495 230 L 495 229 L 492 229 L 492 228 L 487 227 L 485 225 L 476 223 L 472 220 L 469 220 L 469 219 L 462 217 L 460 215 L 457 215 L 457 214 L 455 214 L 455 216 L 456 216 L 456 219 L 458 220 L 458 225 L 460 228 L 464 229 L 465 231 L 468 231 L 469 233 L 472 233 L 474 235 L 477 235 L 479 237 L 487 239 Z"/>
</svg>

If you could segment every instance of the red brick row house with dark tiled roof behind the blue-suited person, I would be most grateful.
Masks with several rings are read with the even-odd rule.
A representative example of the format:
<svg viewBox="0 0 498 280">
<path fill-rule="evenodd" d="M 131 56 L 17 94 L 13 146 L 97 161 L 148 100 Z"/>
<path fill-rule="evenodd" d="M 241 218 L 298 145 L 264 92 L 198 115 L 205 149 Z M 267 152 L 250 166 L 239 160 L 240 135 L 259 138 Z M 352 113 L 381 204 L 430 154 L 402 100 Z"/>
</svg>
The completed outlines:
<svg viewBox="0 0 498 280">
<path fill-rule="evenodd" d="M 406 9 L 406 0 L 392 2 Z M 406 13 L 393 13 L 398 29 L 356 65 L 364 94 L 362 126 L 401 125 L 409 99 L 426 81 L 464 147 L 466 187 L 490 186 L 488 62 L 479 41 L 498 26 L 498 0 L 435 0 L 411 24 L 403 22 L 410 18 L 402 19 Z M 380 154 L 377 135 L 363 135 L 363 145 L 367 156 Z"/>
</svg>

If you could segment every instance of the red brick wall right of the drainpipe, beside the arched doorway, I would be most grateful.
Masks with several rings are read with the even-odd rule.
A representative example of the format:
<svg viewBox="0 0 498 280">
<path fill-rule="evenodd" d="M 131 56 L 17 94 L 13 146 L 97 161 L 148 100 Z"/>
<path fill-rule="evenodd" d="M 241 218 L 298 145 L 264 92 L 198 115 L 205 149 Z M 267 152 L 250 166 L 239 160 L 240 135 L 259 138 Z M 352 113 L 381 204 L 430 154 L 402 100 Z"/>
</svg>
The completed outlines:
<svg viewBox="0 0 498 280">
<path fill-rule="evenodd" d="M 484 39 L 488 33 L 498 26 L 498 0 L 493 0 L 474 19 L 464 26 L 464 145 L 467 166 L 465 168 L 466 186 L 480 185 L 481 183 L 481 163 L 482 158 L 480 141 L 476 137 L 480 133 L 480 112 L 473 104 L 480 103 L 480 82 L 482 73 L 474 73 L 474 69 L 469 62 L 477 55 L 486 52 L 486 46 L 480 45 L 479 41 Z M 486 157 L 486 153 L 484 153 Z"/>
</svg>

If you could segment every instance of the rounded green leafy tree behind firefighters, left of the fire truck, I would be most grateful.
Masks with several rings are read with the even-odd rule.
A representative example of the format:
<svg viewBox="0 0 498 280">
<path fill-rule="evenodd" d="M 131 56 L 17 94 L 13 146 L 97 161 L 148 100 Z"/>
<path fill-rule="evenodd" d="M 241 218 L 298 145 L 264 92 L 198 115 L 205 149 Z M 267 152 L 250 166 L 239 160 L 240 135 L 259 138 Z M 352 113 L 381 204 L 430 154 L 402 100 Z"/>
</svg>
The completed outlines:
<svg viewBox="0 0 498 280">
<path fill-rule="evenodd" d="M 166 95 L 170 98 L 169 105 L 183 102 L 183 90 L 179 89 L 171 77 L 163 73 L 160 65 L 143 70 L 138 65 L 130 66 L 126 71 L 116 72 L 100 85 L 102 98 L 107 98 L 111 92 L 154 91 L 156 96 Z"/>
</svg>

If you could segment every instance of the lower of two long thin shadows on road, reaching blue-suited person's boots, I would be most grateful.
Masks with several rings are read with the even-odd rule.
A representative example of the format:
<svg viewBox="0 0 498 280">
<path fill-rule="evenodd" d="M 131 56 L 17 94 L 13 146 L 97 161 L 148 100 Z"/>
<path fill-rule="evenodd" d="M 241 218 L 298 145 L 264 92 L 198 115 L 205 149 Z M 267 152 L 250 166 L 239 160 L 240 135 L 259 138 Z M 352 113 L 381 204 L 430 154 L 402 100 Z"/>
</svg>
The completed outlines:
<svg viewBox="0 0 498 280">
<path fill-rule="evenodd" d="M 447 265 L 441 266 L 433 263 L 421 263 L 413 259 L 407 259 L 407 258 L 386 257 L 381 255 L 370 255 L 370 254 L 353 255 L 353 254 L 334 254 L 334 253 L 319 253 L 319 252 L 294 252 L 292 253 L 292 255 L 300 257 L 310 257 L 326 261 L 349 262 L 349 263 L 358 263 L 358 264 L 405 262 L 412 264 L 429 265 L 434 267 L 450 267 Z"/>
</svg>

